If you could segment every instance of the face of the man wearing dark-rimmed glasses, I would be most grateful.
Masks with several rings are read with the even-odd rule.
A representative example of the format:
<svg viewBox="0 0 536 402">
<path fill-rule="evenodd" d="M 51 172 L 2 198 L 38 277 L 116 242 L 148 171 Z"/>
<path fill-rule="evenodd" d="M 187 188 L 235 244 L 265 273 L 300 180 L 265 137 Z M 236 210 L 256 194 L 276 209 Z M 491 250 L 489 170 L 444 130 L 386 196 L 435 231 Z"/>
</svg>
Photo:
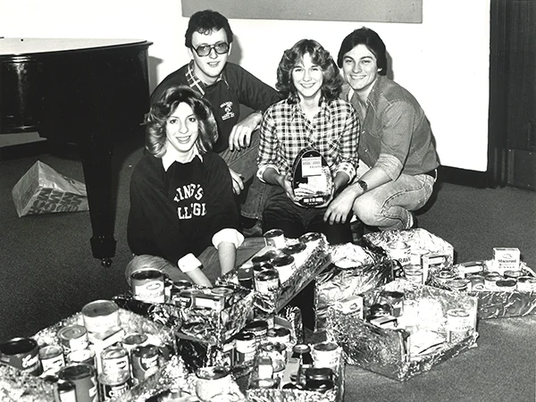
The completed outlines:
<svg viewBox="0 0 536 402">
<path fill-rule="evenodd" d="M 198 46 L 214 46 L 220 43 L 227 42 L 227 34 L 224 29 L 212 30 L 208 34 L 194 32 L 192 35 L 192 46 L 197 49 Z M 217 54 L 214 48 L 210 49 L 210 53 L 205 56 L 200 56 L 194 49 L 188 49 L 188 54 L 194 61 L 194 72 L 199 80 L 205 84 L 211 85 L 222 74 L 223 67 L 227 63 L 227 58 L 230 54 L 230 45 L 227 53 Z"/>
</svg>

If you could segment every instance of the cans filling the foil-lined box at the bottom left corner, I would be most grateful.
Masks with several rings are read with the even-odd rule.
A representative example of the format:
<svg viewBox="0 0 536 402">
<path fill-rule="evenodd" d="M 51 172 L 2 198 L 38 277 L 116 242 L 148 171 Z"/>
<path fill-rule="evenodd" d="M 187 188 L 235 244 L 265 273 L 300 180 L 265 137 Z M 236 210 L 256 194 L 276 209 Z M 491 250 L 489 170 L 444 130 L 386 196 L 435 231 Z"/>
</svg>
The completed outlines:
<svg viewBox="0 0 536 402">
<path fill-rule="evenodd" d="M 33 338 L 0 344 L 0 359 L 54 385 L 60 402 L 99 402 L 116 398 L 156 373 L 162 345 L 146 333 L 125 333 L 118 306 L 97 300 L 82 309 L 84 325 L 68 324 L 54 343 Z"/>
</svg>

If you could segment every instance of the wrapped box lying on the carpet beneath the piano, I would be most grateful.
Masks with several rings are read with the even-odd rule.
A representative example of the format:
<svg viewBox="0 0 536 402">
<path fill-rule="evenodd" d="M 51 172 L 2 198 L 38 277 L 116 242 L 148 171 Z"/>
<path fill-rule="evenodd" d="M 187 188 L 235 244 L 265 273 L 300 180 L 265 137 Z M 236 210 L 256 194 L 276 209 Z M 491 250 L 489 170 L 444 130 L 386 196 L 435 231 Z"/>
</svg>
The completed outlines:
<svg viewBox="0 0 536 402">
<path fill-rule="evenodd" d="M 86 185 L 34 163 L 12 190 L 19 217 L 24 215 L 88 211 Z"/>
</svg>

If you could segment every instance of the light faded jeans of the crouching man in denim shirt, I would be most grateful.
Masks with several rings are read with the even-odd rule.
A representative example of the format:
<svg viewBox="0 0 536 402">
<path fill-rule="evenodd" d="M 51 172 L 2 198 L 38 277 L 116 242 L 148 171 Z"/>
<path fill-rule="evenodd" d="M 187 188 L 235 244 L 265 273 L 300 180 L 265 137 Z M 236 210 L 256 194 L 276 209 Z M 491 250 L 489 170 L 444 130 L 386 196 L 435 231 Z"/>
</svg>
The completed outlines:
<svg viewBox="0 0 536 402">
<path fill-rule="evenodd" d="M 368 169 L 360 165 L 357 177 Z M 397 180 L 357 197 L 352 209 L 366 225 L 377 226 L 380 230 L 407 229 L 411 220 L 410 211 L 416 211 L 426 204 L 434 182 L 435 179 L 427 174 L 401 174 Z"/>
</svg>

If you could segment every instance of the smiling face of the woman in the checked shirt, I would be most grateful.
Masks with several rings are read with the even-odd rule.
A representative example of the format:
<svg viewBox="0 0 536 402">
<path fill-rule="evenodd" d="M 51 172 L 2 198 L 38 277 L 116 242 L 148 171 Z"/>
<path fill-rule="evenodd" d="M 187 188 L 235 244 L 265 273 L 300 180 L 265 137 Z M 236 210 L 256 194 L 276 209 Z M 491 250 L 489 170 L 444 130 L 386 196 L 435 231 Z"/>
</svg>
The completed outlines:
<svg viewBox="0 0 536 402">
<path fill-rule="evenodd" d="M 292 83 L 300 100 L 320 100 L 323 73 L 322 68 L 313 63 L 311 54 L 304 54 L 301 62 L 292 69 Z"/>
</svg>

